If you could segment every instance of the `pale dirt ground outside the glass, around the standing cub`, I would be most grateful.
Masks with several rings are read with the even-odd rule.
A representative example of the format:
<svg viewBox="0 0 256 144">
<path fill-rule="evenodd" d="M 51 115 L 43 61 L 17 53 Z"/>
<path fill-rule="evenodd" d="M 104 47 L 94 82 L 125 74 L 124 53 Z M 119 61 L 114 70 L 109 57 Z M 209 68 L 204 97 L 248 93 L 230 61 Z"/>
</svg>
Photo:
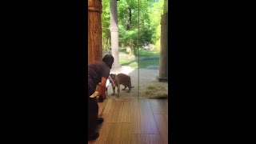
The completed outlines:
<svg viewBox="0 0 256 144">
<path fill-rule="evenodd" d="M 107 87 L 107 97 L 108 98 L 145 98 L 142 97 L 141 94 L 139 94 L 139 89 L 142 86 L 145 86 L 146 84 L 150 82 L 158 82 L 158 75 L 159 75 L 159 66 L 149 66 L 146 69 L 133 69 L 130 66 L 122 66 L 120 68 L 115 68 L 110 70 L 110 74 L 129 74 L 131 78 L 131 85 L 134 86 L 130 90 L 130 93 L 127 93 L 128 89 L 121 90 L 124 86 L 120 86 L 120 94 L 118 96 L 117 88 L 115 91 L 115 95 L 112 96 L 113 93 L 111 84 Z"/>
</svg>

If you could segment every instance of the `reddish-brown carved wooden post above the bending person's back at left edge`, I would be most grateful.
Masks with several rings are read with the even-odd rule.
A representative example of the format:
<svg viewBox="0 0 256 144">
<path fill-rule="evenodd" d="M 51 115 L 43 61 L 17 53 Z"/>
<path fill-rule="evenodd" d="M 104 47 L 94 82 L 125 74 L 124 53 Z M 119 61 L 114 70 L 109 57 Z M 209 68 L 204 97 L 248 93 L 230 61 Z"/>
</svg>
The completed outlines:
<svg viewBox="0 0 256 144">
<path fill-rule="evenodd" d="M 102 2 L 88 0 L 88 64 L 102 61 Z"/>
</svg>

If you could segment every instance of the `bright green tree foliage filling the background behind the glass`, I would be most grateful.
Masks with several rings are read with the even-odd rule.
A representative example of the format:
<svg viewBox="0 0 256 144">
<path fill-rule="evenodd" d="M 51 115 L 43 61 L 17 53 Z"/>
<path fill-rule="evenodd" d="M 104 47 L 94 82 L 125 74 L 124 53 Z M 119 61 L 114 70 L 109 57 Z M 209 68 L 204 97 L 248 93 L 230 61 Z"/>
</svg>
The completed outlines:
<svg viewBox="0 0 256 144">
<path fill-rule="evenodd" d="M 151 43 L 156 45 L 158 50 L 164 0 L 139 0 L 139 2 L 138 7 L 138 0 L 118 1 L 119 46 L 130 46 L 131 44 L 132 50 L 136 53 L 139 47 L 145 43 Z M 130 29 L 127 29 L 127 26 L 130 26 Z M 110 47 L 109 27 L 110 0 L 102 0 L 103 50 Z"/>
</svg>

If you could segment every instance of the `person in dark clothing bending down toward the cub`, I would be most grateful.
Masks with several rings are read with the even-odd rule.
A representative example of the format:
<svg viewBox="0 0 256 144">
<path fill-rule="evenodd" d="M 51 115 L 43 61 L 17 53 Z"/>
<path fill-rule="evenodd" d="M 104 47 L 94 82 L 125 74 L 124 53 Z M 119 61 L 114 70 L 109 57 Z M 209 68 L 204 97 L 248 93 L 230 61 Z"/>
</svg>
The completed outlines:
<svg viewBox="0 0 256 144">
<path fill-rule="evenodd" d="M 94 94 L 100 82 L 98 96 L 106 98 L 106 80 L 110 76 L 113 62 L 113 56 L 106 54 L 102 62 L 88 65 L 88 141 L 98 138 L 96 127 L 104 121 L 103 118 L 98 118 L 98 102 L 96 98 L 90 98 L 90 95 Z"/>
</svg>

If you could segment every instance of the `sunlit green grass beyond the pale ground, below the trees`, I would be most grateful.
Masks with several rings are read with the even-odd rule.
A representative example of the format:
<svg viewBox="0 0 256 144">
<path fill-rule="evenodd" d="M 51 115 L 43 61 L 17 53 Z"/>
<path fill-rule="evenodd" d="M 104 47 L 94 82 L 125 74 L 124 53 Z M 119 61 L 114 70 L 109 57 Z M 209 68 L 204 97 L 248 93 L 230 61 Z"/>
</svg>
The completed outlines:
<svg viewBox="0 0 256 144">
<path fill-rule="evenodd" d="M 126 53 L 126 49 L 120 49 L 120 52 Z M 139 57 L 154 58 L 154 59 L 145 59 L 139 60 L 139 68 L 146 68 L 147 66 L 159 66 L 159 52 L 150 51 L 150 50 L 140 50 Z M 134 61 L 127 59 L 119 59 L 119 63 L 122 66 L 130 66 L 132 68 L 138 68 L 138 56 L 135 56 Z"/>
</svg>

